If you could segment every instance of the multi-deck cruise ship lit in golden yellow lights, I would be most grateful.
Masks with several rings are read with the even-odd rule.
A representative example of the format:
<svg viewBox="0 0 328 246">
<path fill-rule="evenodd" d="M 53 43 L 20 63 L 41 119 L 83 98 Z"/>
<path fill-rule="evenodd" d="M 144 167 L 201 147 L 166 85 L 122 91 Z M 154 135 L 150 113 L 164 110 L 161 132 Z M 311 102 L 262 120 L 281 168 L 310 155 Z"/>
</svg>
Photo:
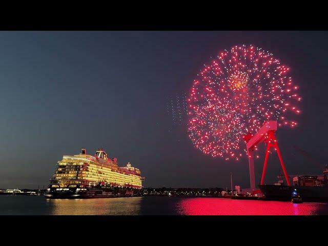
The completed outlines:
<svg viewBox="0 0 328 246">
<path fill-rule="evenodd" d="M 131 166 L 118 167 L 103 149 L 88 155 L 85 148 L 78 155 L 64 155 L 50 179 L 47 198 L 96 198 L 138 196 L 145 177 Z"/>
</svg>

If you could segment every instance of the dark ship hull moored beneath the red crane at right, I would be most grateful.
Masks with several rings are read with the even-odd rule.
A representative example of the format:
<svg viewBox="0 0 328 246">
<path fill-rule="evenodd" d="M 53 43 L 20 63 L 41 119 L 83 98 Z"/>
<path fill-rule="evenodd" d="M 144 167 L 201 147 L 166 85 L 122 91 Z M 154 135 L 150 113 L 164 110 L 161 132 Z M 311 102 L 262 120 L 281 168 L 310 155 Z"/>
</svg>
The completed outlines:
<svg viewBox="0 0 328 246">
<path fill-rule="evenodd" d="M 270 200 L 290 201 L 296 189 L 303 201 L 328 201 L 328 187 L 258 185 L 258 188 Z"/>
</svg>

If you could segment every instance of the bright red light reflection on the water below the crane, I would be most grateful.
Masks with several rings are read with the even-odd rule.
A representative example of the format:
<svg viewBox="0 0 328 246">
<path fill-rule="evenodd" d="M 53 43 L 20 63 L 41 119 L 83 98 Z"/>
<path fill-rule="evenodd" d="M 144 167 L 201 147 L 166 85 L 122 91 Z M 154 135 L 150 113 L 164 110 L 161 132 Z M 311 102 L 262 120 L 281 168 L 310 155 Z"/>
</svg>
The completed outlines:
<svg viewBox="0 0 328 246">
<path fill-rule="evenodd" d="M 315 215 L 321 203 L 186 198 L 177 203 L 184 215 Z"/>
</svg>

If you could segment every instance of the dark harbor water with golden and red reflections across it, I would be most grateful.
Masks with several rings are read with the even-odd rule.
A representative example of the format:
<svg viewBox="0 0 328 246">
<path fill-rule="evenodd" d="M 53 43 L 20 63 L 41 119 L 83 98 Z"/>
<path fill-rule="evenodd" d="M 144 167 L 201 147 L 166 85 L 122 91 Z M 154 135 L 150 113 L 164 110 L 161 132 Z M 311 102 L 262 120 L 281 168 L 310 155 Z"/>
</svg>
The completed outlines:
<svg viewBox="0 0 328 246">
<path fill-rule="evenodd" d="M 187 197 L 0 196 L 0 215 L 328 215 L 328 203 Z"/>
</svg>

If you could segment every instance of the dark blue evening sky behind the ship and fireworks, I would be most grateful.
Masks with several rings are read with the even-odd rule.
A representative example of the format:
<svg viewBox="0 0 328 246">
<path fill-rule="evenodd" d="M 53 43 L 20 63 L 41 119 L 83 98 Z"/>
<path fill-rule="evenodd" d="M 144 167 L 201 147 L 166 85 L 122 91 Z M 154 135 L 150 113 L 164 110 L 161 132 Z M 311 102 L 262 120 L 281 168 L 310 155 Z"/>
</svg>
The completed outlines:
<svg viewBox="0 0 328 246">
<path fill-rule="evenodd" d="M 81 147 L 132 162 L 146 187 L 226 188 L 230 172 L 249 187 L 247 159 L 203 155 L 186 128 L 171 129 L 166 109 L 211 56 L 241 44 L 291 67 L 302 115 L 296 129 L 278 130 L 279 145 L 289 173 L 320 173 L 292 146 L 326 163 L 327 43 L 328 32 L 313 31 L 0 32 L 0 188 L 46 186 L 56 162 Z M 270 158 L 268 183 L 279 172 Z"/>
</svg>

